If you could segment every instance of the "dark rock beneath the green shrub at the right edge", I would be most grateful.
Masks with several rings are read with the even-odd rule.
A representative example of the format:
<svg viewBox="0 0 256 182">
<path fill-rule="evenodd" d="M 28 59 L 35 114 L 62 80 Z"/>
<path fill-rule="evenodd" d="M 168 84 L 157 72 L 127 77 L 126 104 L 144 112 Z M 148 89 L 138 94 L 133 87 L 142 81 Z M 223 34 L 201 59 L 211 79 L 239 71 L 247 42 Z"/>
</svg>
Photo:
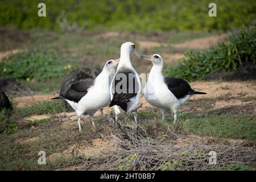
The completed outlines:
<svg viewBox="0 0 256 182">
<path fill-rule="evenodd" d="M 237 68 L 236 71 L 232 71 L 231 73 L 227 73 L 224 71 L 218 73 L 212 73 L 205 77 L 207 80 L 256 80 L 256 64 L 247 63 Z"/>
</svg>

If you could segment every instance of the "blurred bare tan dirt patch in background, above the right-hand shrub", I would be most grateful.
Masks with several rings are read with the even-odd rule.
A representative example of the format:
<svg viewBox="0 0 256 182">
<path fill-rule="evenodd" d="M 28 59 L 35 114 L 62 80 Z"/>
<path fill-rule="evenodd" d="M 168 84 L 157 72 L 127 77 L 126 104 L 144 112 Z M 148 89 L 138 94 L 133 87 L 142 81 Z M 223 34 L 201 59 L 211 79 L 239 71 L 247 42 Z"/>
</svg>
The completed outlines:
<svg viewBox="0 0 256 182">
<path fill-rule="evenodd" d="M 185 43 L 172 44 L 172 47 L 177 49 L 208 49 L 210 46 L 217 44 L 218 40 L 226 36 L 227 35 L 214 35 L 207 38 L 193 39 Z"/>
</svg>

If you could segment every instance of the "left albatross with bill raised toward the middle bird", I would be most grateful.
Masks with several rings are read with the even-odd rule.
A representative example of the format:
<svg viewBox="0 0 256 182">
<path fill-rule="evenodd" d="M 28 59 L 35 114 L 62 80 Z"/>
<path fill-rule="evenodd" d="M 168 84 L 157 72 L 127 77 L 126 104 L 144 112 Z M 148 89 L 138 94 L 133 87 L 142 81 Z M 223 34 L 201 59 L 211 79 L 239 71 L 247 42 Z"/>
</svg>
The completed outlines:
<svg viewBox="0 0 256 182">
<path fill-rule="evenodd" d="M 93 122 L 93 115 L 98 109 L 109 105 L 110 78 L 113 78 L 114 75 L 112 74 L 114 72 L 112 69 L 114 69 L 115 65 L 118 63 L 119 59 L 107 61 L 102 72 L 96 78 L 80 80 L 71 85 L 71 88 L 68 89 L 65 96 L 52 98 L 64 98 L 65 101 L 72 106 L 76 111 L 79 131 L 81 131 L 80 119 L 82 114 L 90 115 L 90 120 L 95 128 L 96 126 Z"/>
</svg>

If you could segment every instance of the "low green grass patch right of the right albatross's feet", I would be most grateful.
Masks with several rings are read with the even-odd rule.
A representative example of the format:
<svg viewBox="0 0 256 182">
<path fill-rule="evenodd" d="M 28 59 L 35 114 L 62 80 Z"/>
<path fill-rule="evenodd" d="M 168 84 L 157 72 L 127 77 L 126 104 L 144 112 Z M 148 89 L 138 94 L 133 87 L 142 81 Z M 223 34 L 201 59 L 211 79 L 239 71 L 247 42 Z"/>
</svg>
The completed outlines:
<svg viewBox="0 0 256 182">
<path fill-rule="evenodd" d="M 256 139 L 256 117 L 253 114 L 189 115 L 181 119 L 184 128 L 195 135 Z"/>
</svg>

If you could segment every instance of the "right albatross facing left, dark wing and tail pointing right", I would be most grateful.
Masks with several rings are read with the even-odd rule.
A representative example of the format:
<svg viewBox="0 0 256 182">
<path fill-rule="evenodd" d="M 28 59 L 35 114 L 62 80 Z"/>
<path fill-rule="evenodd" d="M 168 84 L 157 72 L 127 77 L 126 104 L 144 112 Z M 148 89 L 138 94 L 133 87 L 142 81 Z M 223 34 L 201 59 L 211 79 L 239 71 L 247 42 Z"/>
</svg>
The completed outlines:
<svg viewBox="0 0 256 182">
<path fill-rule="evenodd" d="M 193 90 L 187 81 L 180 78 L 164 77 L 162 74 L 163 59 L 160 55 L 141 55 L 141 57 L 150 60 L 153 64 L 144 87 L 144 97 L 149 104 L 160 109 L 162 121 L 167 113 L 173 113 L 175 122 L 179 107 L 190 96 L 193 94 L 207 94 Z"/>
</svg>

